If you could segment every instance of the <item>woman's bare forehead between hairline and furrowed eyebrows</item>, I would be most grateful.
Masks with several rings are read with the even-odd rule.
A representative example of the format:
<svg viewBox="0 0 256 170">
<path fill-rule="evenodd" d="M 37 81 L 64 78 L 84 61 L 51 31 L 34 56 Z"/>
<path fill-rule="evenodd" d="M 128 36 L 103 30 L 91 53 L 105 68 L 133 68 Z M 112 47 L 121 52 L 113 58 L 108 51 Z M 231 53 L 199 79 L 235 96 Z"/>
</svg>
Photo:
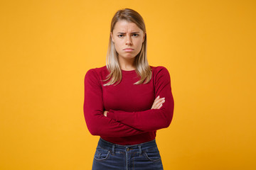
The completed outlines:
<svg viewBox="0 0 256 170">
<path fill-rule="evenodd" d="M 142 30 L 136 25 L 136 23 L 121 20 L 121 21 L 117 21 L 117 23 L 114 25 L 113 31 L 125 33 L 125 32 L 139 32 Z"/>
</svg>

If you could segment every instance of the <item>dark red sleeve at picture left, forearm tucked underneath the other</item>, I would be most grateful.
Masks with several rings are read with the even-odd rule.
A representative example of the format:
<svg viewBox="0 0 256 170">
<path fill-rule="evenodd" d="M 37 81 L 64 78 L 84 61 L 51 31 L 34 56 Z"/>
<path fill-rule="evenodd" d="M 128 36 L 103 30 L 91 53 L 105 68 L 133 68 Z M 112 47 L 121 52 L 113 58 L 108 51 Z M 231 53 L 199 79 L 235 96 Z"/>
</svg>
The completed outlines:
<svg viewBox="0 0 256 170">
<path fill-rule="evenodd" d="M 97 78 L 97 73 L 93 69 L 88 70 L 85 74 L 83 110 L 87 128 L 92 135 L 124 137 L 144 133 L 142 130 L 137 130 L 103 115 L 102 86 Z"/>
</svg>

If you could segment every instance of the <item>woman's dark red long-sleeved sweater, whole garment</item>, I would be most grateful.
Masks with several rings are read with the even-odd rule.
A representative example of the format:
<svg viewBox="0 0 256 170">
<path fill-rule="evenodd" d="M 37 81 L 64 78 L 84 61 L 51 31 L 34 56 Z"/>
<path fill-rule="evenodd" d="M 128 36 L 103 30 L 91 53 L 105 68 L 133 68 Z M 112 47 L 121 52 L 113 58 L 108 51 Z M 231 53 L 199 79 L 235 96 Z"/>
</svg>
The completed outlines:
<svg viewBox="0 0 256 170">
<path fill-rule="evenodd" d="M 151 66 L 150 66 L 151 67 Z M 135 70 L 122 70 L 122 81 L 116 86 L 103 86 L 109 74 L 107 67 L 90 69 L 85 74 L 84 115 L 92 135 L 118 145 L 137 145 L 154 140 L 156 130 L 169 127 L 174 113 L 171 79 L 165 67 L 151 67 L 148 84 L 135 85 Z M 151 109 L 160 96 L 165 103 Z M 104 111 L 109 111 L 107 117 Z"/>
</svg>

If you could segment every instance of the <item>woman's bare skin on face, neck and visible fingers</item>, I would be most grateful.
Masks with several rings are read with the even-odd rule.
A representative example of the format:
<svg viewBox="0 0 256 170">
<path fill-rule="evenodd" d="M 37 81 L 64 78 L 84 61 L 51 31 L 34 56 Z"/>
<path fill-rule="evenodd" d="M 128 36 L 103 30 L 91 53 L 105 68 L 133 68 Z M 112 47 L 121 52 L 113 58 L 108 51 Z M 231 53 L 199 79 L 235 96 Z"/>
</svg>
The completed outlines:
<svg viewBox="0 0 256 170">
<path fill-rule="evenodd" d="M 110 33 L 114 47 L 118 53 L 119 66 L 121 69 L 129 71 L 136 69 L 134 65 L 135 57 L 142 50 L 142 42 L 146 33 L 143 32 L 135 23 L 127 21 L 118 21 L 112 33 Z M 131 52 L 127 52 L 125 48 L 132 48 Z M 164 98 L 157 96 L 154 100 L 151 109 L 159 109 L 165 102 Z M 104 111 L 107 116 L 108 111 Z"/>
</svg>

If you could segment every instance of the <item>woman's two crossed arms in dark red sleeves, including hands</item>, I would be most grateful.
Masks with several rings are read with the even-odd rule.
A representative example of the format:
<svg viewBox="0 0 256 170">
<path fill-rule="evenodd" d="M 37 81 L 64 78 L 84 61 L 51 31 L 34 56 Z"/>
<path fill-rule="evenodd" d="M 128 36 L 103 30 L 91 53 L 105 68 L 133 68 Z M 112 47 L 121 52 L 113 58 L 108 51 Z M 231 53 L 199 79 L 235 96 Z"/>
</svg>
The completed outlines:
<svg viewBox="0 0 256 170">
<path fill-rule="evenodd" d="M 102 86 L 91 69 L 85 75 L 84 115 L 92 135 L 124 137 L 167 128 L 171 123 L 174 100 L 169 72 L 163 69 L 156 79 L 156 96 L 151 109 L 142 112 L 104 111 Z M 164 96 L 165 98 L 160 98 Z M 165 101 L 168 101 L 166 105 Z M 164 106 L 164 107 L 163 107 Z M 143 121 L 142 121 L 143 120 Z"/>
</svg>

